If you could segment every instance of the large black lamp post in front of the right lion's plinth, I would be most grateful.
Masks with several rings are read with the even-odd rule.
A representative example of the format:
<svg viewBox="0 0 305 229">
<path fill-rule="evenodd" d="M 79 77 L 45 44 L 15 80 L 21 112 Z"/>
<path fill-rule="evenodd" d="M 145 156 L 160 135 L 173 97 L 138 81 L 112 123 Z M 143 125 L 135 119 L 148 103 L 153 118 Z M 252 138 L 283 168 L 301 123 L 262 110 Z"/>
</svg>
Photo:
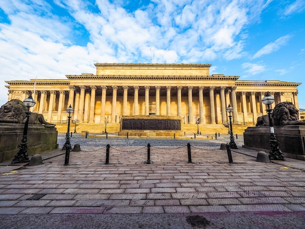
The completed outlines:
<svg viewBox="0 0 305 229">
<path fill-rule="evenodd" d="M 285 161 L 284 155 L 282 151 L 279 148 L 279 142 L 276 140 L 275 134 L 274 134 L 274 128 L 273 128 L 273 122 L 272 122 L 272 110 L 270 109 L 270 104 L 274 103 L 274 97 L 270 95 L 269 92 L 262 98 L 262 103 L 268 106 L 268 109 L 266 110 L 268 113 L 269 118 L 269 126 L 270 126 L 270 145 L 271 150 L 269 151 L 269 159 L 270 160 L 281 160 Z"/>
</svg>

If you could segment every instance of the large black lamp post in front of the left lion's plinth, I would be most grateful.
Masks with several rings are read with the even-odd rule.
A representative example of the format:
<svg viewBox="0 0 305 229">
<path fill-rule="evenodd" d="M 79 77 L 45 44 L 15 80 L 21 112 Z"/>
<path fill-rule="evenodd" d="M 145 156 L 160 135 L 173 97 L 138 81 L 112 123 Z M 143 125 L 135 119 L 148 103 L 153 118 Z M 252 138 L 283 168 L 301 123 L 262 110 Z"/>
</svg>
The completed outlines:
<svg viewBox="0 0 305 229">
<path fill-rule="evenodd" d="M 34 107 L 36 101 L 33 99 L 32 95 L 23 100 L 23 104 L 26 106 L 27 111 L 25 112 L 25 123 L 23 129 L 23 136 L 20 143 L 19 152 L 15 155 L 12 164 L 15 163 L 27 163 L 29 162 L 29 154 L 27 152 L 27 133 L 29 126 L 29 117 L 32 112 L 30 112 L 30 107 Z"/>
</svg>

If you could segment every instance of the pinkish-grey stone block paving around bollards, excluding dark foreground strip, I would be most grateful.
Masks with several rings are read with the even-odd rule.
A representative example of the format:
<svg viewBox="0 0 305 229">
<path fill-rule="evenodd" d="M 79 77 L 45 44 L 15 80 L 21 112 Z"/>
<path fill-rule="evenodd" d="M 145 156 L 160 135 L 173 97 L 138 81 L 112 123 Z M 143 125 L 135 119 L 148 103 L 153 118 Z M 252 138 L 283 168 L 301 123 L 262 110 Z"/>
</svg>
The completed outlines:
<svg viewBox="0 0 305 229">
<path fill-rule="evenodd" d="M 53 152 L 60 154 L 59 150 Z M 82 147 L 0 177 L 0 215 L 305 211 L 305 172 L 219 147 Z"/>
</svg>

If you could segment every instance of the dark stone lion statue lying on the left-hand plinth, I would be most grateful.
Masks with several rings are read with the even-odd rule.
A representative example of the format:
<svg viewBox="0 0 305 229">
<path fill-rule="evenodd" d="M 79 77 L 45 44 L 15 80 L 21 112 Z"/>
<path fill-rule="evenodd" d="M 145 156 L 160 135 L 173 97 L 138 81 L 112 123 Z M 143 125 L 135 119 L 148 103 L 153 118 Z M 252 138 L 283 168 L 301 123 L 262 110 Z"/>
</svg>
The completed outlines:
<svg viewBox="0 0 305 229">
<path fill-rule="evenodd" d="M 25 123 L 26 106 L 19 99 L 12 99 L 1 106 L 0 122 L 5 123 Z M 44 124 L 46 127 L 54 127 L 55 124 L 44 120 L 43 115 L 32 113 L 29 117 L 29 124 Z"/>
</svg>

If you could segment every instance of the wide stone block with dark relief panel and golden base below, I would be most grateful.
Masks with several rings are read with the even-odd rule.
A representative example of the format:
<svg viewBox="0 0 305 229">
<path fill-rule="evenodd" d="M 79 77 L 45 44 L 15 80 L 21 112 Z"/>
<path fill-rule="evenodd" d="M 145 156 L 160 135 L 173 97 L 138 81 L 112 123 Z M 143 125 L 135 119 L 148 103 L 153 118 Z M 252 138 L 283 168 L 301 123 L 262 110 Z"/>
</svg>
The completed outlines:
<svg viewBox="0 0 305 229">
<path fill-rule="evenodd" d="M 182 136 L 181 118 L 175 116 L 122 116 L 119 135 Z"/>
</svg>

